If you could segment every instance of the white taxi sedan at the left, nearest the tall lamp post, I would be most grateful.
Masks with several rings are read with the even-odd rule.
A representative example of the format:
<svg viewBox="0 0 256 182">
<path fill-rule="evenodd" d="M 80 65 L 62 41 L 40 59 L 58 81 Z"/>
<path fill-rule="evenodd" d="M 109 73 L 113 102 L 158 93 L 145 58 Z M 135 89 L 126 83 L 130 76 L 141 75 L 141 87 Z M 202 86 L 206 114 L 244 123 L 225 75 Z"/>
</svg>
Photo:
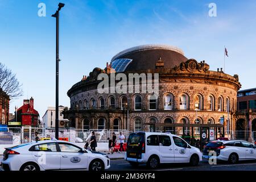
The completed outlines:
<svg viewBox="0 0 256 182">
<path fill-rule="evenodd" d="M 110 168 L 110 159 L 100 152 L 87 151 L 63 140 L 44 140 L 6 148 L 1 165 L 5 171 Z"/>
</svg>

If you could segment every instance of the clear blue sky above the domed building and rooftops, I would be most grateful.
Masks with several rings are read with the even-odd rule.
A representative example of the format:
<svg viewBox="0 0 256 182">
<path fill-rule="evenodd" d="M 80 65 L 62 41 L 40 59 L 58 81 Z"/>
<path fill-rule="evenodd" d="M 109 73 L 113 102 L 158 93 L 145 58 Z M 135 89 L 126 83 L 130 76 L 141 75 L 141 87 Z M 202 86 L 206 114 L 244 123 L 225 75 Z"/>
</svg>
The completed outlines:
<svg viewBox="0 0 256 182">
<path fill-rule="evenodd" d="M 60 105 L 69 106 L 67 91 L 89 75 L 94 67 L 119 51 L 141 44 L 170 44 L 185 56 L 205 60 L 210 70 L 224 67 L 238 74 L 242 89 L 255 88 L 256 2 L 245 1 L 61 1 L 60 15 Z M 208 15 L 209 3 L 217 5 L 217 17 Z M 38 16 L 38 4 L 46 4 L 46 17 Z M 55 19 L 59 1 L 0 0 L 0 62 L 23 84 L 43 117 L 55 106 Z"/>
</svg>

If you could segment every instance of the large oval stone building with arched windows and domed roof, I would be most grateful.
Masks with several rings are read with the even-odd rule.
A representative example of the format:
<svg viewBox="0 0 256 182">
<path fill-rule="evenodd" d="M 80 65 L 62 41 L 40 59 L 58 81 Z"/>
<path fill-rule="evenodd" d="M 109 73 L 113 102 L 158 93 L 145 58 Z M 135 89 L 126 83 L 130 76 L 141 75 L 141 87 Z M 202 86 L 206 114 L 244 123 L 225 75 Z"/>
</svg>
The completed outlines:
<svg viewBox="0 0 256 182">
<path fill-rule="evenodd" d="M 97 77 L 100 73 L 109 77 L 118 73 L 127 77 L 129 73 L 158 73 L 159 94 L 98 93 L 97 85 L 101 81 Z M 142 88 L 142 83 L 134 88 L 137 86 Z M 138 46 L 118 53 L 105 69 L 94 68 L 88 77 L 84 76 L 73 85 L 68 90 L 71 109 L 64 111 L 64 117 L 77 129 L 129 131 L 175 130 L 173 127 L 153 129 L 151 123 L 214 125 L 224 117 L 228 134 L 235 129 L 234 113 L 240 88 L 238 75 L 230 76 L 222 69 L 210 71 L 205 61 L 187 59 L 178 48 Z M 182 130 L 177 128 L 175 133 L 180 134 Z"/>
</svg>

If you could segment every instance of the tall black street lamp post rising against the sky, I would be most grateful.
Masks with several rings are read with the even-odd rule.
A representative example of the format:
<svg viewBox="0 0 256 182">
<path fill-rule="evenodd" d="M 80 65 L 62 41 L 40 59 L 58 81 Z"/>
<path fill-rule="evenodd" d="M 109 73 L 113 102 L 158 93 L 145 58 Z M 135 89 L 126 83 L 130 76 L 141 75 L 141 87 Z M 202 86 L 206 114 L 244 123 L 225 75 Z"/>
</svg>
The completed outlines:
<svg viewBox="0 0 256 182">
<path fill-rule="evenodd" d="M 55 105 L 55 138 L 59 139 L 59 11 L 65 4 L 59 3 L 59 8 L 52 17 L 56 18 L 56 105 Z"/>
</svg>

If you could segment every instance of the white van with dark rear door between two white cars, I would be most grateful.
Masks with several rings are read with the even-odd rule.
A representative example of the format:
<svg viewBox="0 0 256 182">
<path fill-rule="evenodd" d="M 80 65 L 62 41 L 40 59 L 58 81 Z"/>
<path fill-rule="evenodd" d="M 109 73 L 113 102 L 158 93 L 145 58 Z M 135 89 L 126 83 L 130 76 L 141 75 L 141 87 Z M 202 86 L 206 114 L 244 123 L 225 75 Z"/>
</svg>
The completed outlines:
<svg viewBox="0 0 256 182">
<path fill-rule="evenodd" d="M 190 146 L 171 133 L 131 133 L 127 140 L 125 159 L 132 166 L 145 163 L 152 169 L 160 163 L 190 163 L 197 166 L 202 158 L 199 148 Z"/>
</svg>

